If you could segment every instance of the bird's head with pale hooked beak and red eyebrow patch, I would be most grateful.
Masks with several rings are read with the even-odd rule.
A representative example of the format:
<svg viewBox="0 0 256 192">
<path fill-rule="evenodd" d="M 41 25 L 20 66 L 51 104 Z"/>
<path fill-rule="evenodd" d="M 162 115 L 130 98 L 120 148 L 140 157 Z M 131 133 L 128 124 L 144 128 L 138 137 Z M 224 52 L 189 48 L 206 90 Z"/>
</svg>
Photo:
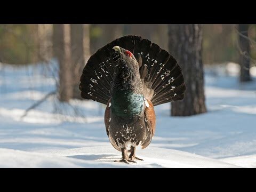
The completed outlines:
<svg viewBox="0 0 256 192">
<path fill-rule="evenodd" d="M 112 55 L 114 60 L 115 68 L 124 69 L 124 68 L 138 68 L 138 62 L 135 59 L 131 51 L 123 49 L 119 46 L 114 46 L 114 53 Z"/>
</svg>

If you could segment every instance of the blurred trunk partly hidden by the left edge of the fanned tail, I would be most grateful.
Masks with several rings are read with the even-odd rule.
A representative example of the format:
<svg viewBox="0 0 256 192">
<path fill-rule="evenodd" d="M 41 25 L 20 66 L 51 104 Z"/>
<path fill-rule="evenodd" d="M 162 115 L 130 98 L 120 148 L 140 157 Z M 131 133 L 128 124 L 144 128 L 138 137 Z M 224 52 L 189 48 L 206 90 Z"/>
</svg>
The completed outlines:
<svg viewBox="0 0 256 192">
<path fill-rule="evenodd" d="M 73 98 L 82 99 L 79 90 L 80 77 L 90 57 L 89 25 L 71 24 L 71 58 L 73 71 Z"/>
</svg>

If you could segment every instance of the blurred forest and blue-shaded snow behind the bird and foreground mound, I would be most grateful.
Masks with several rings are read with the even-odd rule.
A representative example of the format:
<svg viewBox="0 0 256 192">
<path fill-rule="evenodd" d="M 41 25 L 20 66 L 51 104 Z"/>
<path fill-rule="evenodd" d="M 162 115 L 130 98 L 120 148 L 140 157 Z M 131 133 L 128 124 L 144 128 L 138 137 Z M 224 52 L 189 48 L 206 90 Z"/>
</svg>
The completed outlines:
<svg viewBox="0 0 256 192">
<path fill-rule="evenodd" d="M 212 158 L 256 154 L 254 24 L 0 25 L 0 148 L 109 145 L 106 106 L 82 99 L 78 85 L 90 56 L 124 35 L 169 51 L 185 76 L 185 99 L 155 108 L 152 146 Z"/>
</svg>

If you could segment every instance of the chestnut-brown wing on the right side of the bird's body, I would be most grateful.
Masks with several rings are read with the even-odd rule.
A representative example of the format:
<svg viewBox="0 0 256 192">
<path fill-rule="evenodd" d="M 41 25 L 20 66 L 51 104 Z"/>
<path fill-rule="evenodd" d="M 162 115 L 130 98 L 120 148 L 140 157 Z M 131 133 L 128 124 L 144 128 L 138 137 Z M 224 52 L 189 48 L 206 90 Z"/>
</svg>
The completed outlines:
<svg viewBox="0 0 256 192">
<path fill-rule="evenodd" d="M 149 105 L 148 107 L 146 107 L 145 113 L 144 113 L 145 118 L 147 119 L 145 124 L 149 128 L 151 135 L 150 137 L 148 137 L 148 139 L 146 139 L 146 141 L 142 143 L 142 147 L 141 147 L 142 149 L 146 148 L 149 145 L 156 130 L 156 115 L 155 115 L 154 106 L 150 100 L 147 100 L 147 102 Z"/>
</svg>

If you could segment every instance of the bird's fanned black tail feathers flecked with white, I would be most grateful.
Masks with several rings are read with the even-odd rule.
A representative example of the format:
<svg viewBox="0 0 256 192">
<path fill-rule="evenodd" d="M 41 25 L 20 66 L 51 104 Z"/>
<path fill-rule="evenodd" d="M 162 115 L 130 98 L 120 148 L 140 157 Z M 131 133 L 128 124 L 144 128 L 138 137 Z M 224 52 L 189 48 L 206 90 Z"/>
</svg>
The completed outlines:
<svg viewBox="0 0 256 192">
<path fill-rule="evenodd" d="M 186 86 L 177 61 L 157 44 L 131 35 L 115 39 L 91 56 L 81 76 L 82 98 L 107 104 L 114 76 L 110 55 L 116 45 L 131 51 L 137 59 L 145 97 L 154 106 L 183 99 Z"/>
</svg>

